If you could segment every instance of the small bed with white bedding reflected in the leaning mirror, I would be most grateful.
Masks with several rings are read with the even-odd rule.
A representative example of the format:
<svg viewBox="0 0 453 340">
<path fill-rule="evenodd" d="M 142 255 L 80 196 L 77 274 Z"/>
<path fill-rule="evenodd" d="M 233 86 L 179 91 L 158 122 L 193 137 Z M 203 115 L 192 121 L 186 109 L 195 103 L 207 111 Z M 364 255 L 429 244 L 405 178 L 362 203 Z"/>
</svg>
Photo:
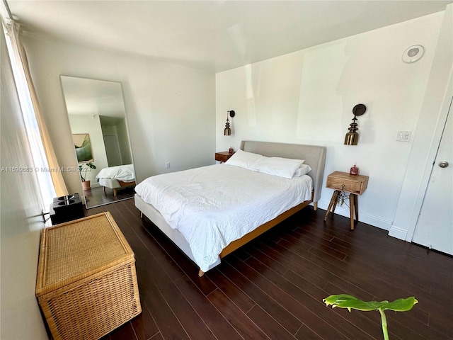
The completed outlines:
<svg viewBox="0 0 453 340">
<path fill-rule="evenodd" d="M 135 172 L 132 164 L 109 166 L 103 168 L 96 175 L 96 181 L 105 188 L 113 189 L 113 196 L 117 196 L 118 188 L 135 186 Z"/>
</svg>

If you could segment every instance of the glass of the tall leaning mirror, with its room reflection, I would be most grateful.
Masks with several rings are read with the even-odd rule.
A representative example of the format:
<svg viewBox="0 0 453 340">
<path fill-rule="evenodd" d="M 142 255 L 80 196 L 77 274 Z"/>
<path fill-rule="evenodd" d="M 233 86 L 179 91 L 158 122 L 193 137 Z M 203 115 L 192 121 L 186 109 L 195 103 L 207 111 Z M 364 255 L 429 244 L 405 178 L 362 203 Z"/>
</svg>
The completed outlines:
<svg viewBox="0 0 453 340">
<path fill-rule="evenodd" d="M 121 83 L 61 76 L 86 208 L 134 196 Z"/>
</svg>

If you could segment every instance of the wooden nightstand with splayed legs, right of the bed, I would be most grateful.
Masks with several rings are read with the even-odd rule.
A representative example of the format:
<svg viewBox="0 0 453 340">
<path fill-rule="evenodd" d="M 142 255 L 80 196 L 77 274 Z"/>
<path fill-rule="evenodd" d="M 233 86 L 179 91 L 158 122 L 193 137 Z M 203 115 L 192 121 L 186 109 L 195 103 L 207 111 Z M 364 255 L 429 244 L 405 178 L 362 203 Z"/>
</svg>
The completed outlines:
<svg viewBox="0 0 453 340">
<path fill-rule="evenodd" d="M 348 172 L 335 171 L 327 176 L 326 188 L 334 189 L 331 203 L 329 203 L 324 221 L 327 220 L 328 213 L 335 212 L 338 204 L 338 198 L 343 193 L 349 193 L 349 210 L 351 230 L 354 229 L 354 215 L 355 220 L 359 221 L 359 200 L 358 196 L 367 190 L 368 176 L 363 175 L 350 175 Z"/>
</svg>

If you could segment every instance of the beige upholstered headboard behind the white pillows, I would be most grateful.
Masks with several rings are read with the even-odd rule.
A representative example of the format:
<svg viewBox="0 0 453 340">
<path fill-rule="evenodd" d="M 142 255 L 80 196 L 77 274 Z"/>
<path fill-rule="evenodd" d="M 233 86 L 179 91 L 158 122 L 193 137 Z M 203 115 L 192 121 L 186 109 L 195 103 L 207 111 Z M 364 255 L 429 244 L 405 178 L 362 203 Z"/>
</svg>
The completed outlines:
<svg viewBox="0 0 453 340">
<path fill-rule="evenodd" d="M 262 154 L 267 157 L 305 159 L 304 164 L 309 164 L 311 167 L 309 176 L 313 179 L 313 201 L 318 202 L 319 198 L 321 198 L 324 165 L 326 164 L 326 147 L 243 140 L 240 149 L 246 152 L 253 152 L 254 154 Z"/>
</svg>

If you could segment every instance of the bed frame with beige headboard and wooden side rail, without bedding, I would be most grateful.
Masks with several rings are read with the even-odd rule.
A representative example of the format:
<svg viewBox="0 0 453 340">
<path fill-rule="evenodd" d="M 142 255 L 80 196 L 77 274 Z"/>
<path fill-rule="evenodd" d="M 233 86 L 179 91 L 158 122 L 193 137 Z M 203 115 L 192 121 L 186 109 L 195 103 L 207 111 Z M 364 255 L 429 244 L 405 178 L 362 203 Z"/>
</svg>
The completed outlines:
<svg viewBox="0 0 453 340">
<path fill-rule="evenodd" d="M 314 191 L 312 192 L 311 200 L 306 200 L 299 205 L 296 205 L 294 208 L 291 208 L 281 215 L 275 217 L 273 220 L 260 225 L 260 227 L 254 229 L 253 231 L 245 234 L 240 239 L 231 242 L 226 246 L 222 253 L 219 255 L 219 258 L 222 259 L 224 256 L 230 254 L 232 251 L 243 246 L 247 242 L 250 242 L 252 239 L 258 237 L 263 232 L 268 231 L 270 228 L 274 227 L 278 223 L 286 220 L 289 216 L 294 215 L 299 210 L 302 210 L 307 205 L 313 203 L 314 210 L 317 208 L 317 203 L 321 197 L 322 181 L 324 174 L 324 165 L 326 162 L 326 147 L 319 147 L 314 145 L 296 145 L 296 144 L 285 144 L 285 143 L 275 143 L 275 142 L 256 142 L 256 141 L 242 141 L 241 150 L 246 152 L 253 152 L 256 154 L 262 154 L 267 157 L 284 157 L 292 159 L 304 159 L 304 164 L 309 164 L 311 171 L 309 176 L 313 179 Z M 166 236 L 173 241 L 182 251 L 186 254 L 192 261 L 194 261 L 194 256 L 190 250 L 188 242 L 185 240 L 183 235 L 178 231 L 178 229 L 173 229 L 168 225 L 164 220 L 164 217 L 160 214 L 156 208 L 152 205 L 144 202 L 142 198 L 136 193 L 134 196 L 135 206 L 140 210 L 141 217 L 143 215 L 147 216 L 151 222 L 154 223 L 159 229 L 161 229 Z M 195 261 L 194 261 L 195 262 Z M 220 260 L 210 266 L 214 268 L 220 263 Z M 202 276 L 204 273 L 199 271 L 198 275 Z"/>
</svg>

